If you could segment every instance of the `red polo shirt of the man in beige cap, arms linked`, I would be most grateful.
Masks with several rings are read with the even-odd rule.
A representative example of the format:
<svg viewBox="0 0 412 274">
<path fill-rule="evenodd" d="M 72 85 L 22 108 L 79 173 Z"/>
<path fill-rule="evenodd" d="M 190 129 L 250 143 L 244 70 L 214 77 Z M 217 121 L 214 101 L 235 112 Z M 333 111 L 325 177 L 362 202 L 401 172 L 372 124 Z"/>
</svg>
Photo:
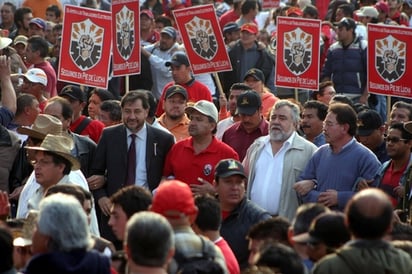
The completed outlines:
<svg viewBox="0 0 412 274">
<path fill-rule="evenodd" d="M 236 159 L 239 156 L 230 146 L 213 137 L 210 145 L 195 155 L 192 137 L 177 142 L 166 156 L 163 176 L 173 176 L 187 184 L 197 184 L 197 178 L 213 183 L 215 166 L 222 159 Z"/>
</svg>

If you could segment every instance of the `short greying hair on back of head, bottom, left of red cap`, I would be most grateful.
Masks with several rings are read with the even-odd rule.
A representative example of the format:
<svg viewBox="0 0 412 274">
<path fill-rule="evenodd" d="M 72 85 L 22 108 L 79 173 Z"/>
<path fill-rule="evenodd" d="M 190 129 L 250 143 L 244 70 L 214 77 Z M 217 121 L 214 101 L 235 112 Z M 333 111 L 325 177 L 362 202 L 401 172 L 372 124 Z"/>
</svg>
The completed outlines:
<svg viewBox="0 0 412 274">
<path fill-rule="evenodd" d="M 142 266 L 164 266 L 169 251 L 174 249 L 171 225 L 165 217 L 150 211 L 136 213 L 129 219 L 125 239 L 129 259 Z"/>
</svg>

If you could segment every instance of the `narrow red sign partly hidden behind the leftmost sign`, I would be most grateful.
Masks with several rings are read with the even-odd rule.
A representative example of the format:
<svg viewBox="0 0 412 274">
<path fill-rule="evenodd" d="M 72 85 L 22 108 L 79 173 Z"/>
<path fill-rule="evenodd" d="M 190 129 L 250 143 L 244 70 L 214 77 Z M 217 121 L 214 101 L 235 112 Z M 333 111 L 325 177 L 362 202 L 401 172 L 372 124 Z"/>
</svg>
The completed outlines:
<svg viewBox="0 0 412 274">
<path fill-rule="evenodd" d="M 112 0 L 113 75 L 140 73 L 138 0 Z"/>
</svg>

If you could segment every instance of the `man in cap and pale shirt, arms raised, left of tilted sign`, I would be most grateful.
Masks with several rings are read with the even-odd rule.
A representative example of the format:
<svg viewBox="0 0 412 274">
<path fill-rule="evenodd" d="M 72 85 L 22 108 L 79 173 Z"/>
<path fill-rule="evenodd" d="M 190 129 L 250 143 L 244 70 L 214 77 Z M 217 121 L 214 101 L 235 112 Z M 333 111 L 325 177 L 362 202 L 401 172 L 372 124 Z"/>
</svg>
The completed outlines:
<svg viewBox="0 0 412 274">
<path fill-rule="evenodd" d="M 157 100 L 162 95 L 163 87 L 173 80 L 172 72 L 165 66 L 166 61 L 172 58 L 179 44 L 176 42 L 176 30 L 173 27 L 164 27 L 160 32 L 160 41 L 142 47 L 142 54 L 150 62 L 153 77 L 152 92 Z"/>
</svg>

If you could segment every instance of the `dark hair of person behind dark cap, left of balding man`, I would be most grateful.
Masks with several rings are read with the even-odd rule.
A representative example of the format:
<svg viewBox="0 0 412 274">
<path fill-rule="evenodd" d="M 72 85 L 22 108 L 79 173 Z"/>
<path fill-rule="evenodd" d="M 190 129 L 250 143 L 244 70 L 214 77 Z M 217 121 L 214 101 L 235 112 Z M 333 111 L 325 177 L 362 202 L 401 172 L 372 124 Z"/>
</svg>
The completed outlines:
<svg viewBox="0 0 412 274">
<path fill-rule="evenodd" d="M 295 218 L 292 221 L 294 235 L 299 235 L 309 231 L 313 219 L 322 213 L 328 212 L 329 209 L 318 203 L 303 204 L 296 210 Z"/>
</svg>

